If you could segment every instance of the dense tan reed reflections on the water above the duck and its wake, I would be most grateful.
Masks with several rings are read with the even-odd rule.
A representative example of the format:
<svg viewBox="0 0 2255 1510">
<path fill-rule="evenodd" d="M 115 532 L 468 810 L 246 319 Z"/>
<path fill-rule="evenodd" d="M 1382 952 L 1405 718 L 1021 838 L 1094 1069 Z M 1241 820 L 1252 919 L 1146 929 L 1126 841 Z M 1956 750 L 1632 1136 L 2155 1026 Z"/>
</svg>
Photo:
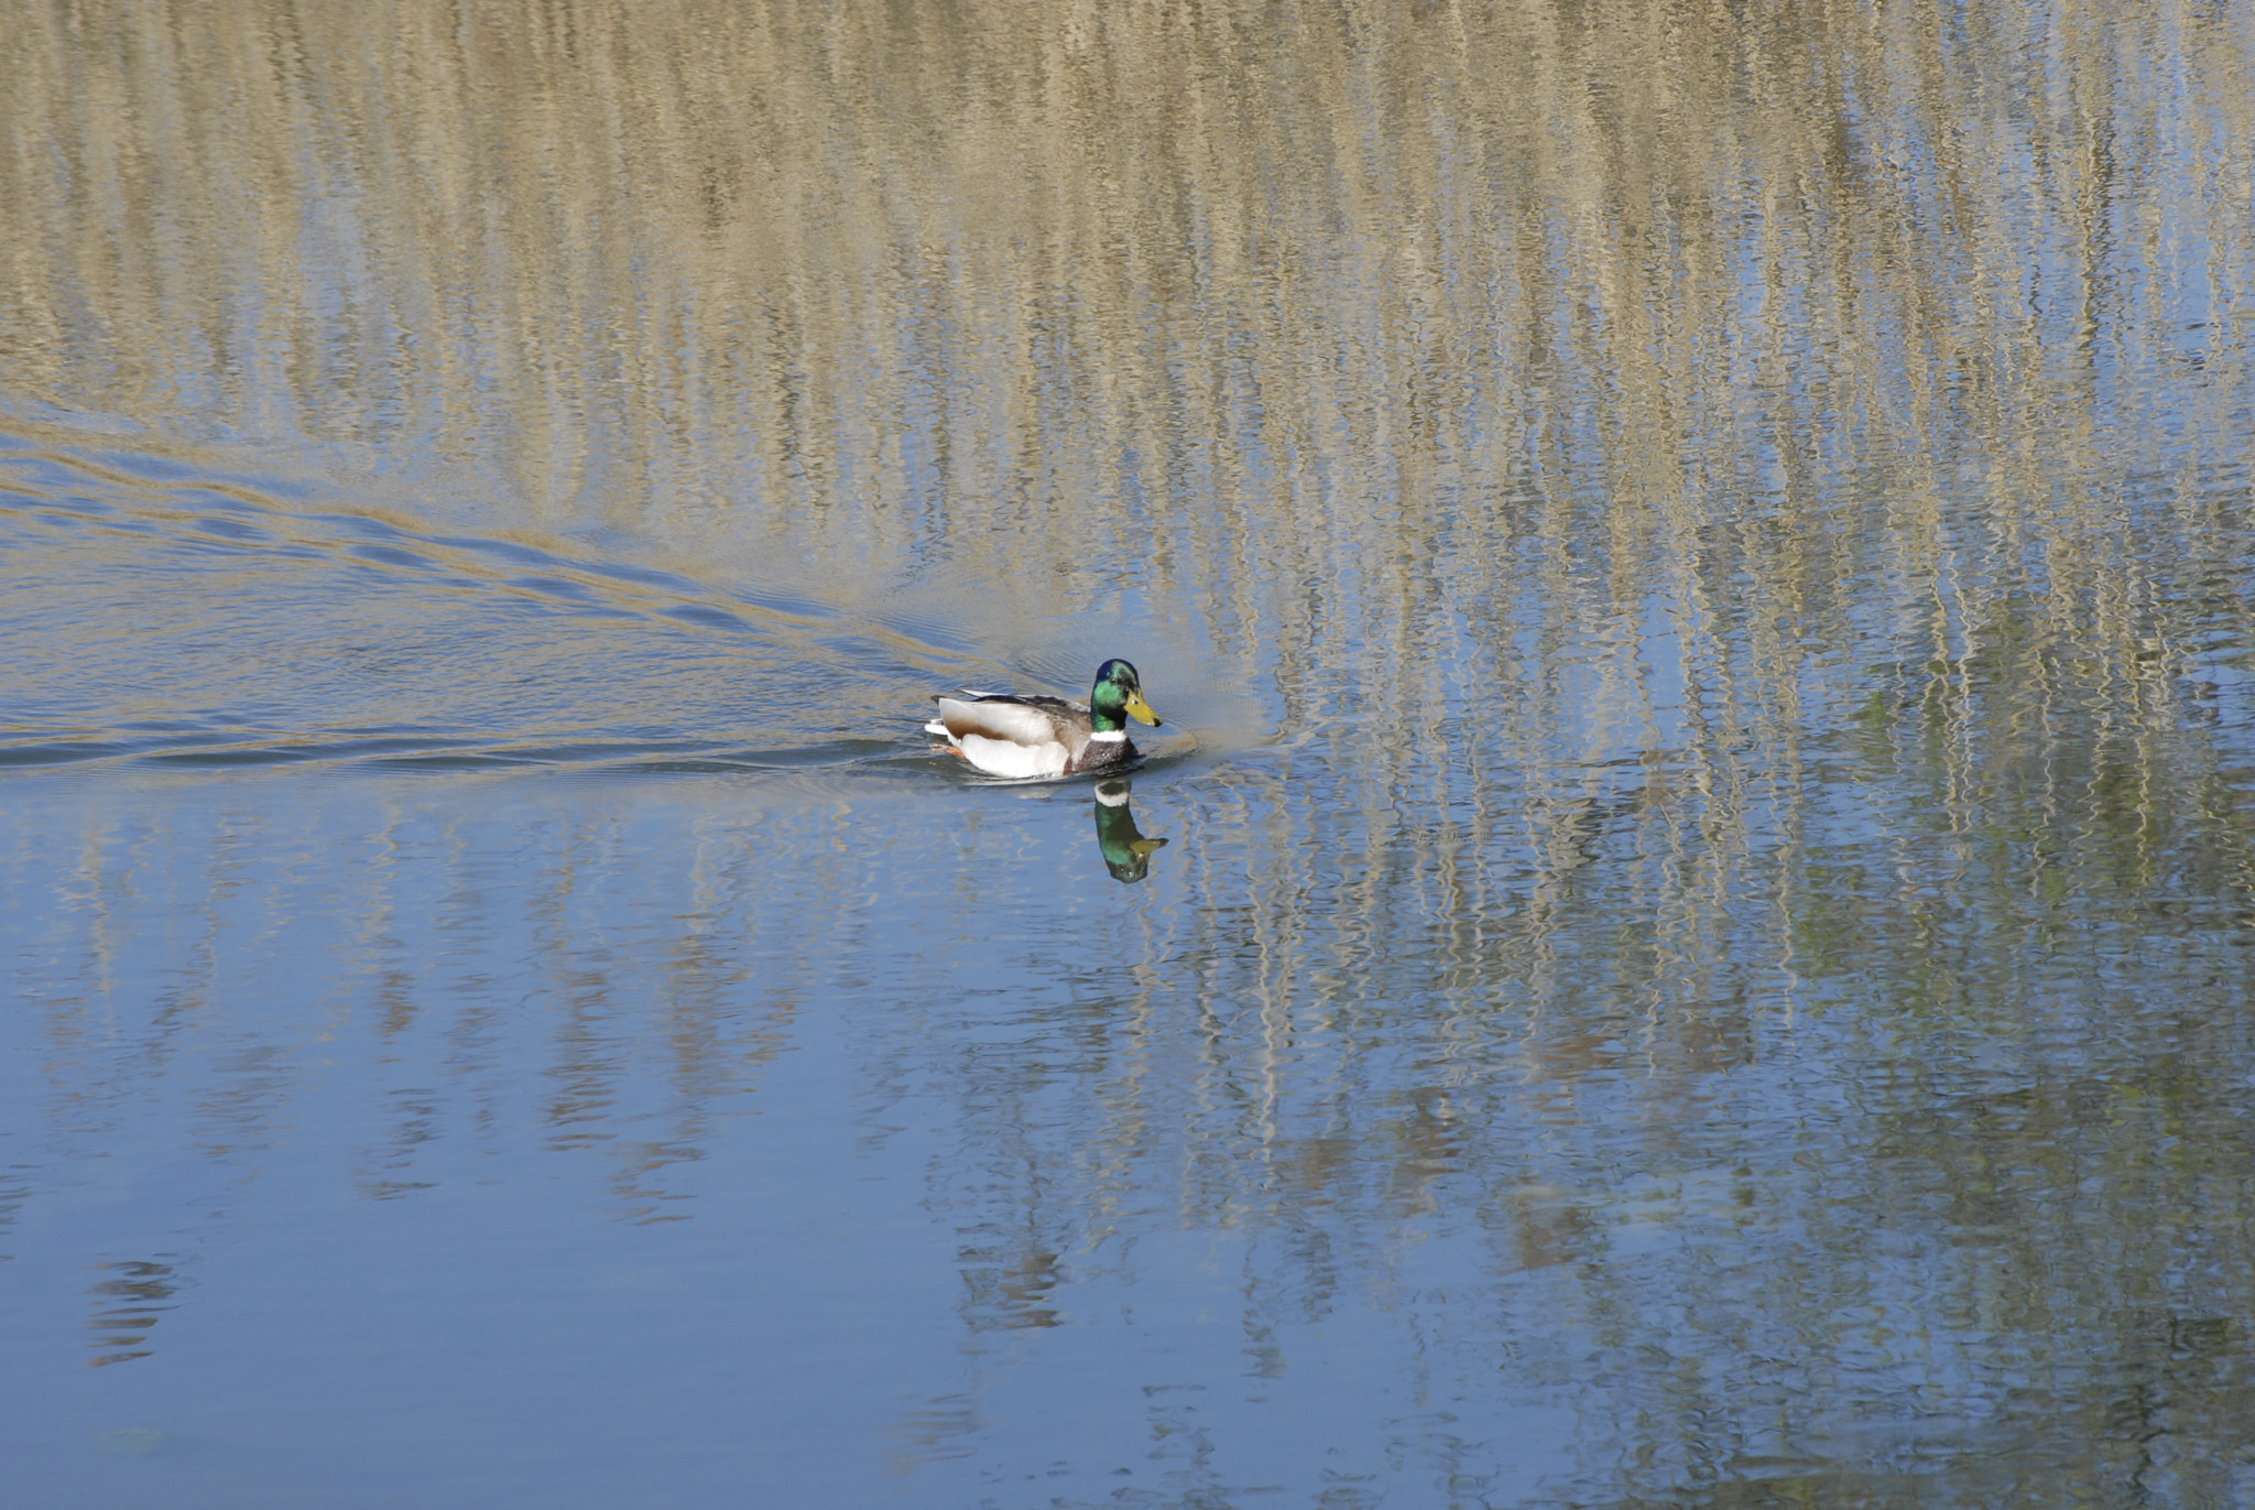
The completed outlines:
<svg viewBox="0 0 2255 1510">
<path fill-rule="evenodd" d="M 0 25 L 18 402 L 311 440 L 444 499 L 485 476 L 503 526 L 746 571 L 812 553 L 1028 614 L 1125 580 L 1272 675 L 1288 727 L 1367 661 L 1373 788 L 1430 774 L 1394 752 L 1452 738 L 1450 675 L 1497 688 L 1459 767 L 1669 745 L 1723 826 L 1757 797 L 1734 752 L 1790 790 L 1863 643 L 1960 754 L 1982 634 L 2016 722 L 2099 686 L 2131 745 L 2181 713 L 2196 634 L 2122 488 L 2241 427 L 2230 11 Z M 2199 535 L 2208 497 L 2187 472 L 2156 524 Z"/>
</svg>

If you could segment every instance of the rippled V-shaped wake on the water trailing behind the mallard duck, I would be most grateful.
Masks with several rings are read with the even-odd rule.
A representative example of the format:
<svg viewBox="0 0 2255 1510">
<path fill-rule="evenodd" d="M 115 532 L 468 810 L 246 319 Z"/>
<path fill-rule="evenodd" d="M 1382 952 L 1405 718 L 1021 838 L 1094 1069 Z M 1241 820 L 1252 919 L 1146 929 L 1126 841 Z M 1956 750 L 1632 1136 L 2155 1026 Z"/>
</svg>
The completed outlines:
<svg viewBox="0 0 2255 1510">
<path fill-rule="evenodd" d="M 0 763 L 907 761 L 936 688 L 1024 682 L 882 616 L 171 472 L 0 451 Z"/>
</svg>

